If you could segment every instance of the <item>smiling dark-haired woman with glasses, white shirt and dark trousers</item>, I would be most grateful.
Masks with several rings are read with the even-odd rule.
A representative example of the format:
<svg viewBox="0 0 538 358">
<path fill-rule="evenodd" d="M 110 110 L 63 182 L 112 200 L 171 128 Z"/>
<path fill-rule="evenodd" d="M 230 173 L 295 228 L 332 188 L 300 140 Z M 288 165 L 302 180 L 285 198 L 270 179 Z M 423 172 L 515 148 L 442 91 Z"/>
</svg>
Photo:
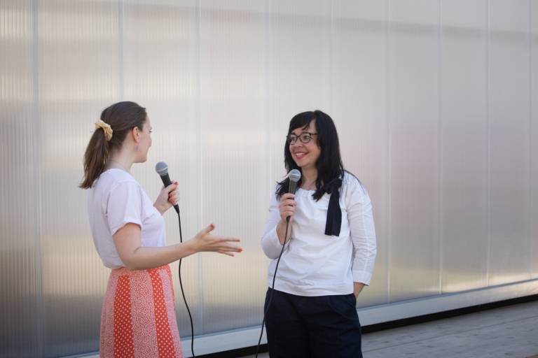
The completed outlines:
<svg viewBox="0 0 538 358">
<path fill-rule="evenodd" d="M 264 308 L 270 357 L 362 357 L 355 306 L 376 254 L 368 193 L 344 170 L 336 127 L 321 110 L 291 119 L 284 164 L 301 179 L 296 194 L 288 178 L 277 184 L 261 241 L 269 287 L 277 267 Z"/>
</svg>

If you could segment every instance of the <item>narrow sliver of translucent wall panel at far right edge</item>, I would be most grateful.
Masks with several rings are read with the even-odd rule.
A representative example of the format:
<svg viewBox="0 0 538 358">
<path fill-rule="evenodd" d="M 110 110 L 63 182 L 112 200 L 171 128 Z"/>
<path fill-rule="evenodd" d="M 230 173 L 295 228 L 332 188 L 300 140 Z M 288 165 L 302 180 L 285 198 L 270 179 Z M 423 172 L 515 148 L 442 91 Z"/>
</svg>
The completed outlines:
<svg viewBox="0 0 538 358">
<path fill-rule="evenodd" d="M 530 53 L 530 73 L 531 73 L 531 138 L 530 138 L 530 182 L 531 182 L 531 250 L 532 257 L 531 273 L 533 278 L 538 278 L 538 1 L 530 1 L 531 17 L 531 53 Z"/>
</svg>

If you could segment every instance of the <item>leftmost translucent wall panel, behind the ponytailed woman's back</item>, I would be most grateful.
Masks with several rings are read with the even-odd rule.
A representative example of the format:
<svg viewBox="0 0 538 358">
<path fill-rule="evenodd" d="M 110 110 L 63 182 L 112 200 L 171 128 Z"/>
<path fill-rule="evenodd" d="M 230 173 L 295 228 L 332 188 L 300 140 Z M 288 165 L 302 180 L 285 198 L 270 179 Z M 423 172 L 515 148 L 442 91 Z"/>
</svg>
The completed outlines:
<svg viewBox="0 0 538 358">
<path fill-rule="evenodd" d="M 41 354 L 39 113 L 32 1 L 0 10 L 0 356 Z"/>
</svg>

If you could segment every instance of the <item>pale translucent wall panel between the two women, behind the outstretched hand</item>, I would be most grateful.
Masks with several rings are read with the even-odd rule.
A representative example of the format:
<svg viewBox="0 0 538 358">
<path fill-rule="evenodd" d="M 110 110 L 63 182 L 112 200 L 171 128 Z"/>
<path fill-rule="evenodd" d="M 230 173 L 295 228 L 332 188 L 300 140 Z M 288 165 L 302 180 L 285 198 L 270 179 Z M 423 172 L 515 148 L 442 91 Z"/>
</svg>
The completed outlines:
<svg viewBox="0 0 538 358">
<path fill-rule="evenodd" d="M 244 252 L 200 256 L 205 333 L 261 324 L 267 287 L 260 237 L 269 176 L 263 1 L 203 1 L 200 9 L 202 225 L 240 236 Z M 240 303 L 240 304 L 237 304 Z M 254 343 L 253 343 L 254 344 Z"/>
</svg>

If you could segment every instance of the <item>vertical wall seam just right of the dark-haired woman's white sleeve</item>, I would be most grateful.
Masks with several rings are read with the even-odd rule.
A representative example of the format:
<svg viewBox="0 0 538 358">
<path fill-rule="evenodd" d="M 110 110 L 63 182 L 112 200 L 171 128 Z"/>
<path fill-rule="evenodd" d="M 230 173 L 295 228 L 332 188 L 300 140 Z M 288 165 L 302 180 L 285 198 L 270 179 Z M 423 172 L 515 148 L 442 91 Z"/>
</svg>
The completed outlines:
<svg viewBox="0 0 538 358">
<path fill-rule="evenodd" d="M 389 58 L 390 58 L 390 0 L 385 1 L 385 123 L 387 131 L 387 303 L 391 301 L 390 290 L 390 262 L 392 252 L 392 166 L 391 166 L 391 150 L 392 150 L 392 133 L 390 131 L 390 91 L 389 91 Z"/>
</svg>

